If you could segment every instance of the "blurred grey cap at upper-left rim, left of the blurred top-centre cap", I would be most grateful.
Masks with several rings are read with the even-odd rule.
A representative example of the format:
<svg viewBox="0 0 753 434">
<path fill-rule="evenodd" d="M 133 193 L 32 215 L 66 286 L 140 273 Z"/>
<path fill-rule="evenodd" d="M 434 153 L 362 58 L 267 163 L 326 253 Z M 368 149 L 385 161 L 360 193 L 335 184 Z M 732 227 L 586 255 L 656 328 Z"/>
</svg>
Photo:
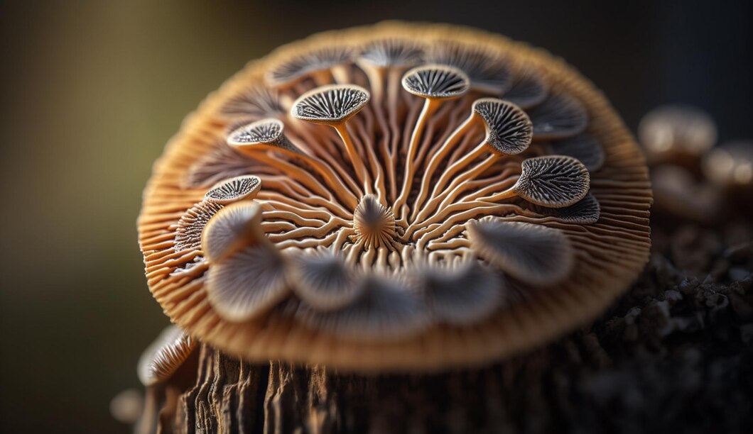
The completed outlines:
<svg viewBox="0 0 753 434">
<path fill-rule="evenodd" d="M 318 84 L 324 84 L 329 70 L 352 61 L 352 47 L 345 44 L 330 44 L 317 50 L 293 56 L 274 66 L 265 75 L 267 84 L 273 87 L 287 87 L 306 76 L 313 76 Z"/>
</svg>

